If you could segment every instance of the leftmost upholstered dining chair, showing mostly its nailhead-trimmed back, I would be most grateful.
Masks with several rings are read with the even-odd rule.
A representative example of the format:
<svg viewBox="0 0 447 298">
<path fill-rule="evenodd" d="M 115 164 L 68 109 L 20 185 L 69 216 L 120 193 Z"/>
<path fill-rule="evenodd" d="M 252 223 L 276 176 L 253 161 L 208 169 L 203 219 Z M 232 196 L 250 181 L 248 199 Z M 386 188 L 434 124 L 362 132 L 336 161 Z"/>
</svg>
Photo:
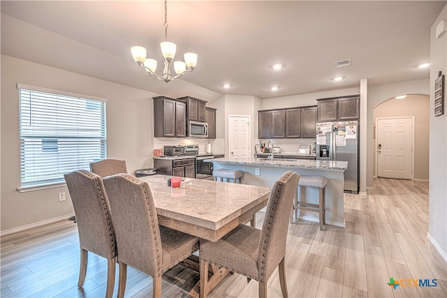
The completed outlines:
<svg viewBox="0 0 447 298">
<path fill-rule="evenodd" d="M 80 244 L 80 272 L 78 288 L 84 285 L 87 274 L 88 253 L 95 253 L 108 260 L 107 290 L 105 297 L 112 297 L 115 286 L 117 244 L 115 228 L 110 217 L 110 204 L 105 194 L 103 179 L 85 170 L 64 175 L 78 224 Z"/>
</svg>

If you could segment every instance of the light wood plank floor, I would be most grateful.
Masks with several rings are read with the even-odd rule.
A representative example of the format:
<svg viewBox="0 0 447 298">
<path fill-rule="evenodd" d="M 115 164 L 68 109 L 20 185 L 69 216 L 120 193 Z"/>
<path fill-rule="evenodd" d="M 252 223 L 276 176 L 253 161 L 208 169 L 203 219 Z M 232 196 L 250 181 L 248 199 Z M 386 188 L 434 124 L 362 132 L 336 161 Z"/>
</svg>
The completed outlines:
<svg viewBox="0 0 447 298">
<path fill-rule="evenodd" d="M 290 297 L 447 297 L 447 265 L 426 235 L 428 183 L 375 179 L 368 195 L 345 194 L 346 228 L 299 221 L 288 229 L 286 277 Z M 257 214 L 258 227 L 263 212 Z M 61 221 L 1 237 L 1 297 L 104 297 L 107 263 L 89 255 L 77 288 L 78 234 Z M 118 272 L 118 270 L 117 270 Z M 398 287 L 395 280 L 437 279 L 436 288 Z M 118 278 L 118 277 L 117 277 Z M 163 276 L 163 297 L 185 297 L 198 275 L 182 266 Z M 126 297 L 152 296 L 152 278 L 129 267 Z M 257 297 L 258 283 L 228 276 L 210 297 Z M 115 293 L 117 294 L 117 281 Z M 281 297 L 279 277 L 268 297 Z"/>
</svg>

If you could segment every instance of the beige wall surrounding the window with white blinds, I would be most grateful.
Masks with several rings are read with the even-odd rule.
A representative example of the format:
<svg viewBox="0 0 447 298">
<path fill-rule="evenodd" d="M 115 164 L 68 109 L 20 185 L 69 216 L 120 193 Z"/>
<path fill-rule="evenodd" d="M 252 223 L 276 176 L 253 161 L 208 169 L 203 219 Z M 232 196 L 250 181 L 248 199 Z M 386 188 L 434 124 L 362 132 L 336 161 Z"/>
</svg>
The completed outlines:
<svg viewBox="0 0 447 298">
<path fill-rule="evenodd" d="M 1 55 L 2 231 L 73 214 L 66 186 L 28 193 L 17 191 L 20 186 L 17 83 L 108 98 L 108 157 L 126 160 L 129 172 L 152 166 L 152 97 L 159 94 Z M 62 191 L 67 192 L 67 200 L 59 202 L 57 194 Z"/>
</svg>

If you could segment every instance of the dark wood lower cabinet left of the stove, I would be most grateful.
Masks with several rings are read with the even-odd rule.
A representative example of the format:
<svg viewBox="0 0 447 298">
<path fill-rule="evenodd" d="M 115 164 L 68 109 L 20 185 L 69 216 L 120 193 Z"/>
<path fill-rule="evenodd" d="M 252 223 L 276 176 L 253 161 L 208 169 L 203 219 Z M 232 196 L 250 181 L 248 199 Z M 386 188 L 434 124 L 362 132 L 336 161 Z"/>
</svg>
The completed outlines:
<svg viewBox="0 0 447 298">
<path fill-rule="evenodd" d="M 196 158 L 154 158 L 154 167 L 157 174 L 196 178 Z"/>
</svg>

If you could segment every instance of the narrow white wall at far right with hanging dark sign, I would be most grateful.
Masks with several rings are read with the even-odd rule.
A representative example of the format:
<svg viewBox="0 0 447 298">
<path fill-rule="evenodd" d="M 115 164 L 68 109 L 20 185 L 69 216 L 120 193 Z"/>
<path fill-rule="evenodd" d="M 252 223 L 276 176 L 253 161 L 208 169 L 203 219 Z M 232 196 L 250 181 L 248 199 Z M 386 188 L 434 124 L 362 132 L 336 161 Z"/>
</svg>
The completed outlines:
<svg viewBox="0 0 447 298">
<path fill-rule="evenodd" d="M 447 34 L 435 38 L 440 20 L 447 19 L 447 5 L 433 23 L 430 37 L 430 193 L 428 237 L 447 261 L 447 87 L 444 87 L 444 115 L 434 117 L 434 80 L 438 71 L 447 77 Z M 444 21 L 445 22 L 445 21 Z M 447 78 L 444 78 L 444 86 Z M 2 175 L 3 176 L 3 175 Z"/>
</svg>

